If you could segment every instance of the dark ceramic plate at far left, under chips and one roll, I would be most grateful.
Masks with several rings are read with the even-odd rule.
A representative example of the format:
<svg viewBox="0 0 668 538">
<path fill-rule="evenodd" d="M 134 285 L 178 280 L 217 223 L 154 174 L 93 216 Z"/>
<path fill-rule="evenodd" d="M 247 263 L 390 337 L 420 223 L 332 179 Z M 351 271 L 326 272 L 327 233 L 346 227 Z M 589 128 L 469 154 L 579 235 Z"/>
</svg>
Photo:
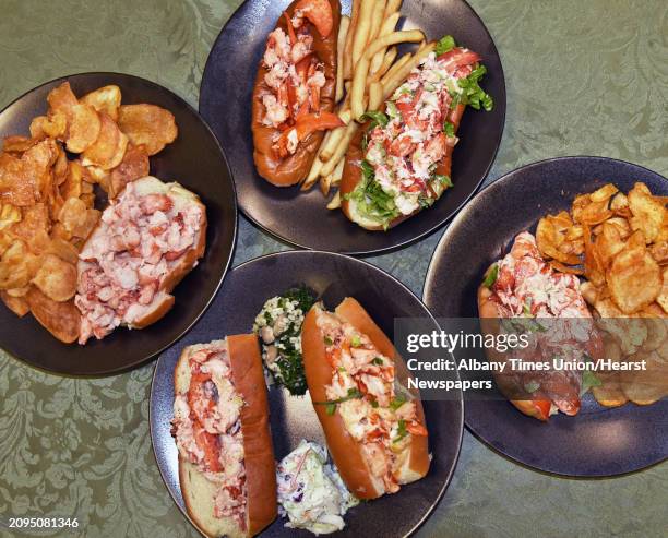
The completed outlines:
<svg viewBox="0 0 668 538">
<path fill-rule="evenodd" d="M 157 84 L 117 73 L 85 73 L 58 79 L 32 89 L 0 112 L 0 136 L 27 134 L 31 120 L 46 112 L 49 91 L 64 81 L 81 96 L 116 84 L 122 103 L 151 103 L 171 111 L 177 140 L 151 157 L 151 174 L 179 181 L 206 205 L 206 253 L 175 289 L 176 304 L 159 322 L 142 330 L 117 328 L 86 346 L 64 345 L 32 315 L 16 318 L 0 304 L 0 347 L 26 362 L 67 375 L 102 375 L 135 367 L 180 338 L 202 315 L 215 295 L 231 259 L 237 230 L 235 186 L 225 155 L 206 123 L 183 99 Z"/>
</svg>

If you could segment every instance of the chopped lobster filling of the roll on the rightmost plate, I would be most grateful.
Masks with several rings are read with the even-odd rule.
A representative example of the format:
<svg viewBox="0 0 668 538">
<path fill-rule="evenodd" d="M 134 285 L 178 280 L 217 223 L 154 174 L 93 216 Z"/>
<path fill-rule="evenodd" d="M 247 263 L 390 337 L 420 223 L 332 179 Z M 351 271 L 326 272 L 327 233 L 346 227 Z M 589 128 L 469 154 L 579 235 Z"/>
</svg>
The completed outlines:
<svg viewBox="0 0 668 538">
<path fill-rule="evenodd" d="M 599 356 L 603 343 L 578 278 L 554 271 L 528 231 L 518 234 L 511 251 L 488 270 L 484 286 L 503 319 L 503 331 L 528 335 L 528 345 L 515 350 L 514 357 L 551 363 L 556 357 L 580 362 Z M 580 410 L 583 374 L 577 370 L 512 371 L 508 376 L 529 394 L 544 419 L 559 410 L 566 415 Z"/>
</svg>

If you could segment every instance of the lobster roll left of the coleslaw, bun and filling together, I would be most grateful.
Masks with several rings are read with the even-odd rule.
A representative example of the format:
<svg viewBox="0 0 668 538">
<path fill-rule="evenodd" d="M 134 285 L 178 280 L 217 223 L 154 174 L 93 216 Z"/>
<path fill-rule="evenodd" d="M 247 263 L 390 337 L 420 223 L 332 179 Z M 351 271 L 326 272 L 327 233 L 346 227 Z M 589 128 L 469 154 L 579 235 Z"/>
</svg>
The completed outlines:
<svg viewBox="0 0 668 538">
<path fill-rule="evenodd" d="M 276 517 L 276 468 L 258 338 L 183 349 L 171 434 L 190 518 L 208 537 L 255 536 Z"/>
</svg>

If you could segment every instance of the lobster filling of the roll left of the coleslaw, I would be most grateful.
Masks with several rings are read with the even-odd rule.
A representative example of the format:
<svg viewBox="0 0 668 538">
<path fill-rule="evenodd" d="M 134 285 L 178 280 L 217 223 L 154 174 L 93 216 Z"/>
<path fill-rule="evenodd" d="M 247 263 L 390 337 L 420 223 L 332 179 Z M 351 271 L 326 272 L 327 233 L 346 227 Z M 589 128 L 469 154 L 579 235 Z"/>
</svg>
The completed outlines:
<svg viewBox="0 0 668 538">
<path fill-rule="evenodd" d="M 232 517 L 246 528 L 246 468 L 241 408 L 229 350 L 215 342 L 189 358 L 190 386 L 174 400 L 171 434 L 179 454 L 216 483 L 216 517 Z"/>
</svg>

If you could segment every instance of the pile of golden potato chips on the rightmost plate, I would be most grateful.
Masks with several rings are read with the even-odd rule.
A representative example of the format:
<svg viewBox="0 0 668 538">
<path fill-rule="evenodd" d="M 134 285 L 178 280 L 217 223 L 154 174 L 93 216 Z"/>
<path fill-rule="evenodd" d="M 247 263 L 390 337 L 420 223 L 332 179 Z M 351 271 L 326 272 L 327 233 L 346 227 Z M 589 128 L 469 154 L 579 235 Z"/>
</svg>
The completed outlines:
<svg viewBox="0 0 668 538">
<path fill-rule="evenodd" d="M 557 271 L 583 275 L 605 357 L 645 360 L 645 371 L 597 372 L 596 399 L 615 407 L 668 396 L 668 198 L 644 183 L 624 194 L 608 183 L 570 212 L 541 218 L 536 240 Z"/>
</svg>

